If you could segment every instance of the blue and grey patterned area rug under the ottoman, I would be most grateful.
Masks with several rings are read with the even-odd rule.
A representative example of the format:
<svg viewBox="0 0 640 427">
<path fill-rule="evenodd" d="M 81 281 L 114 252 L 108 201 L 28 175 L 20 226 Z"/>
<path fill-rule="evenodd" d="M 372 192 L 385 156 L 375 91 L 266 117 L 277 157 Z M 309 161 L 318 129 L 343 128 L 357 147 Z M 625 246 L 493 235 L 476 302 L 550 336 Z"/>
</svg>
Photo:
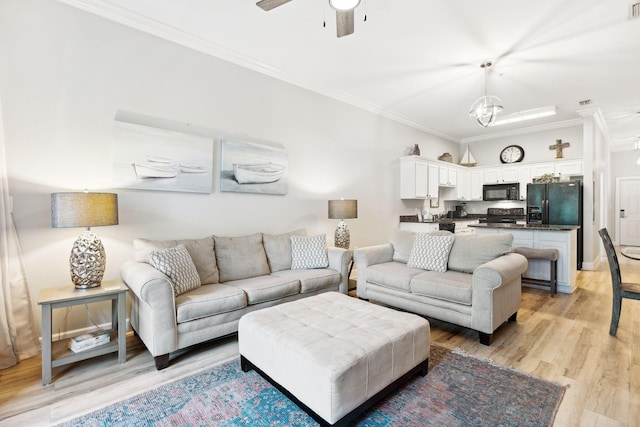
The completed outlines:
<svg viewBox="0 0 640 427">
<path fill-rule="evenodd" d="M 429 374 L 416 376 L 354 425 L 551 426 L 564 387 L 489 361 L 432 346 Z M 180 379 L 61 426 L 317 426 L 240 361 Z"/>
</svg>

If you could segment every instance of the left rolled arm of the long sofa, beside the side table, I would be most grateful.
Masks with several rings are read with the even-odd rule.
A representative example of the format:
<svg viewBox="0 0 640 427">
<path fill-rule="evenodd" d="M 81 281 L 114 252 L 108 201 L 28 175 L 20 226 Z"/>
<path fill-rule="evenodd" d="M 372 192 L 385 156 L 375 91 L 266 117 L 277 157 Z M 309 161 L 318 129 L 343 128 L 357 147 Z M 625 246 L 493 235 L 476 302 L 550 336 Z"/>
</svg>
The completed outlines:
<svg viewBox="0 0 640 427">
<path fill-rule="evenodd" d="M 160 356 L 178 348 L 178 326 L 173 286 L 151 265 L 126 261 L 120 268 L 132 298 L 131 325 L 151 354 Z"/>
</svg>

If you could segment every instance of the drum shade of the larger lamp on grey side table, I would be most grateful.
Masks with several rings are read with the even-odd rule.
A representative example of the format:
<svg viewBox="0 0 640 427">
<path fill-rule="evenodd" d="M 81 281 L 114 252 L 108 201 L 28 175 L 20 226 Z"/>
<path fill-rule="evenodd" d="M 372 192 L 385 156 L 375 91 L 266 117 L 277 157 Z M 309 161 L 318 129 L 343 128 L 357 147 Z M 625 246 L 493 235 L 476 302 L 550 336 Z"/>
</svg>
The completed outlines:
<svg viewBox="0 0 640 427">
<path fill-rule="evenodd" d="M 51 194 L 51 226 L 53 228 L 117 224 L 117 194 L 81 192 Z"/>
</svg>

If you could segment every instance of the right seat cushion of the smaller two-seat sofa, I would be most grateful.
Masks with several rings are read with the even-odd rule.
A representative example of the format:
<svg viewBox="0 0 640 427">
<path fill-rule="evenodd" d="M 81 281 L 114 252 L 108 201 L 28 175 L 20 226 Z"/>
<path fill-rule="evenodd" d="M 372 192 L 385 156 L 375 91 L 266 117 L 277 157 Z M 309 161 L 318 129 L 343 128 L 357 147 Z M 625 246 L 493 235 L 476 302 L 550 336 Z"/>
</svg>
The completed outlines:
<svg viewBox="0 0 640 427">
<path fill-rule="evenodd" d="M 470 306 L 472 284 L 472 274 L 425 271 L 411 279 L 411 291 L 416 295 Z"/>
</svg>

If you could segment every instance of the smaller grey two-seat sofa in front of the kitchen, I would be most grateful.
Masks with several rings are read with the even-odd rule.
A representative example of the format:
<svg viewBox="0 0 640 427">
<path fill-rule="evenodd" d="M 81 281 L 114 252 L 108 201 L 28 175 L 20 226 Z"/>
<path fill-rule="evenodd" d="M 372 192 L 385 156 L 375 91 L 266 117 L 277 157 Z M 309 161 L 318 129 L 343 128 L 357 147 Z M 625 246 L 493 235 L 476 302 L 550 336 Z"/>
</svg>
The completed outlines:
<svg viewBox="0 0 640 427">
<path fill-rule="evenodd" d="M 397 230 L 390 243 L 355 250 L 358 297 L 474 329 L 490 345 L 520 308 L 527 260 L 511 252 L 512 241 Z"/>
</svg>

